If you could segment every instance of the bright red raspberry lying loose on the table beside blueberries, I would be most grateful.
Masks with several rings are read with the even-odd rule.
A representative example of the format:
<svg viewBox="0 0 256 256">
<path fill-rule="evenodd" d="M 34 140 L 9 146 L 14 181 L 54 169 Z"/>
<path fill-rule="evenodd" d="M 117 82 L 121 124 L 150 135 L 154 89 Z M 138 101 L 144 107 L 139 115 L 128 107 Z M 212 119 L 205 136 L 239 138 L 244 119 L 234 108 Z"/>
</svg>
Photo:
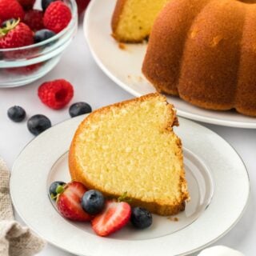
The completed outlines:
<svg viewBox="0 0 256 256">
<path fill-rule="evenodd" d="M 38 97 L 46 106 L 54 110 L 59 110 L 66 106 L 73 98 L 73 95 L 73 86 L 64 79 L 44 82 L 38 88 Z"/>
</svg>

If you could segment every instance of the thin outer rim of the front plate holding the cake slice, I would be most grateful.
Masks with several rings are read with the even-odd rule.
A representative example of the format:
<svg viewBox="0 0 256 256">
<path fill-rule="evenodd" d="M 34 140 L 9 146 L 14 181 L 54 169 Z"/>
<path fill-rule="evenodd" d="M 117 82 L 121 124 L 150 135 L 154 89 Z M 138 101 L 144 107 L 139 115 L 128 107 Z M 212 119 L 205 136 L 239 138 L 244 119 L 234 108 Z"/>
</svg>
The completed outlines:
<svg viewBox="0 0 256 256">
<path fill-rule="evenodd" d="M 76 118 L 70 118 L 68 120 L 65 120 L 63 122 L 58 122 L 57 124 L 55 124 L 54 126 L 52 127 L 56 127 L 56 126 L 61 126 L 63 123 L 65 122 L 73 122 L 74 119 L 78 119 L 80 121 L 82 121 L 83 118 L 86 117 L 87 114 L 85 115 L 82 115 L 82 116 L 78 116 Z M 193 122 L 191 120 L 187 120 L 186 118 L 179 118 L 179 119 L 183 119 L 185 122 L 192 122 L 194 123 L 196 126 L 202 126 L 196 122 Z M 227 142 L 224 138 L 222 138 L 220 135 L 218 135 L 217 133 L 215 133 L 213 130 L 210 130 L 209 128 L 205 127 L 205 126 L 202 126 L 203 129 L 206 129 L 208 131 L 210 131 L 211 133 L 215 134 L 216 136 L 218 136 L 218 138 L 222 139 L 224 142 L 227 143 L 228 146 L 230 146 L 230 148 L 232 150 L 234 150 L 234 153 L 237 155 L 237 157 L 240 159 L 240 161 L 242 162 L 242 166 L 245 170 L 245 174 L 246 174 L 246 180 L 247 180 L 247 184 L 248 184 L 248 190 L 246 191 L 246 201 L 244 202 L 244 206 L 242 208 L 242 211 L 240 212 L 240 214 L 238 215 L 238 217 L 236 218 L 236 220 L 229 226 L 229 228 L 227 228 L 224 232 L 222 232 L 222 234 L 219 234 L 218 237 L 212 239 L 210 242 L 207 242 L 206 244 L 202 245 L 202 246 L 199 246 L 197 248 L 195 248 L 194 250 L 190 250 L 190 251 L 186 251 L 185 253 L 182 253 L 182 254 L 177 254 L 176 256 L 182 256 L 182 255 L 189 255 L 189 254 L 193 254 L 194 252 L 198 252 L 199 250 L 202 250 L 204 248 L 206 248 L 207 246 L 210 246 L 210 244 L 218 241 L 218 239 L 222 238 L 223 236 L 225 236 L 230 230 L 233 229 L 233 227 L 240 221 L 240 219 L 242 218 L 243 214 L 245 213 L 246 211 L 246 208 L 248 206 L 248 203 L 249 203 L 249 199 L 250 199 L 250 176 L 249 176 L 249 172 L 246 168 L 246 164 L 245 162 L 242 160 L 241 156 L 238 154 L 237 150 L 234 149 L 234 147 L 232 145 L 230 145 L 230 142 Z M 34 231 L 35 234 L 38 234 L 40 237 L 44 238 L 47 242 L 49 242 L 50 244 L 60 248 L 61 250 L 64 250 L 66 252 L 69 252 L 71 254 L 74 254 L 74 250 L 68 250 L 66 248 L 63 248 L 62 246 L 59 246 L 56 242 L 50 242 L 48 241 L 48 239 L 46 238 L 46 235 L 43 235 L 41 234 L 40 232 L 38 232 L 37 228 L 35 228 L 34 226 L 31 226 L 30 223 L 28 221 L 26 221 L 26 218 L 21 214 L 20 210 L 18 210 L 18 208 L 15 206 L 15 199 L 14 199 L 14 194 L 13 194 L 13 189 L 12 189 L 12 180 L 14 178 L 14 171 L 15 170 L 15 165 L 17 164 L 18 162 L 18 158 L 19 156 L 22 154 L 23 151 L 26 150 L 27 146 L 30 146 L 31 143 L 33 143 L 37 138 L 41 138 L 41 136 L 45 133 L 49 133 L 51 130 L 48 129 L 46 130 L 44 133 L 38 135 L 37 137 L 33 138 L 30 142 L 28 142 L 26 144 L 26 146 L 23 147 L 22 151 L 18 154 L 16 160 L 14 161 L 14 165 L 11 169 L 11 174 L 10 174 L 10 198 L 11 198 L 11 201 L 13 202 L 13 205 L 14 205 L 14 208 L 16 210 L 16 212 L 18 213 L 19 217 L 22 218 L 22 221 L 26 223 L 27 226 L 30 227 L 31 230 Z M 191 151 L 191 150 L 190 150 Z M 192 152 L 192 151 L 191 151 Z M 193 154 L 195 154 L 194 152 L 192 152 Z M 197 155 L 197 154 L 196 154 Z M 206 163 L 205 163 L 206 164 Z M 191 224 L 193 225 L 193 224 Z M 82 255 L 85 255 L 85 254 L 82 254 Z M 89 256 L 89 254 L 86 254 L 86 256 Z M 92 254 L 90 256 L 93 256 Z"/>
</svg>

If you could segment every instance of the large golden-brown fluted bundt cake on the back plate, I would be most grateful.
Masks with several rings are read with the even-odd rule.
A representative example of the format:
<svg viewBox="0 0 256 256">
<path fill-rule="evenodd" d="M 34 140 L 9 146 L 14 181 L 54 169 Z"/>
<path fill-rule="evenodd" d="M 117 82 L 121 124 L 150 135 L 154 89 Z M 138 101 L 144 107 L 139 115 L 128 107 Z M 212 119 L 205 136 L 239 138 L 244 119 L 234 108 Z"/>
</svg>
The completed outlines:
<svg viewBox="0 0 256 256">
<path fill-rule="evenodd" d="M 254 3 L 170 1 L 154 22 L 143 74 L 196 106 L 256 116 Z"/>
</svg>

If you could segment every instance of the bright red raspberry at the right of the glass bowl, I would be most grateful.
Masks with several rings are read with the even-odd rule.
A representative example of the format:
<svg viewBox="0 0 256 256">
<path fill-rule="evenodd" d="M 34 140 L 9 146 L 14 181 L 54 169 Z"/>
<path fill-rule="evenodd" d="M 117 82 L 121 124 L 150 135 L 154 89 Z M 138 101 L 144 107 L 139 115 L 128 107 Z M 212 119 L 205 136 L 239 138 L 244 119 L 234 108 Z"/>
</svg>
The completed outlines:
<svg viewBox="0 0 256 256">
<path fill-rule="evenodd" d="M 70 23 L 72 14 L 64 2 L 51 2 L 43 16 L 43 24 L 48 30 L 58 33 Z"/>
</svg>

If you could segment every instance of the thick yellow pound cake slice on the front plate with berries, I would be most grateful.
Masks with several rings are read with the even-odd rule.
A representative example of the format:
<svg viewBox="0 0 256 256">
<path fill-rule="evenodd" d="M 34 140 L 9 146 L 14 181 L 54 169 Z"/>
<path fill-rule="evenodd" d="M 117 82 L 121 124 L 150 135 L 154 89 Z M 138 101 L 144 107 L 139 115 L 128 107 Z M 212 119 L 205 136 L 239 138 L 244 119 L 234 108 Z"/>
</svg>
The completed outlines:
<svg viewBox="0 0 256 256">
<path fill-rule="evenodd" d="M 132 206 L 177 214 L 189 198 L 174 106 L 161 94 L 106 106 L 78 126 L 70 146 L 72 179 Z"/>
</svg>

